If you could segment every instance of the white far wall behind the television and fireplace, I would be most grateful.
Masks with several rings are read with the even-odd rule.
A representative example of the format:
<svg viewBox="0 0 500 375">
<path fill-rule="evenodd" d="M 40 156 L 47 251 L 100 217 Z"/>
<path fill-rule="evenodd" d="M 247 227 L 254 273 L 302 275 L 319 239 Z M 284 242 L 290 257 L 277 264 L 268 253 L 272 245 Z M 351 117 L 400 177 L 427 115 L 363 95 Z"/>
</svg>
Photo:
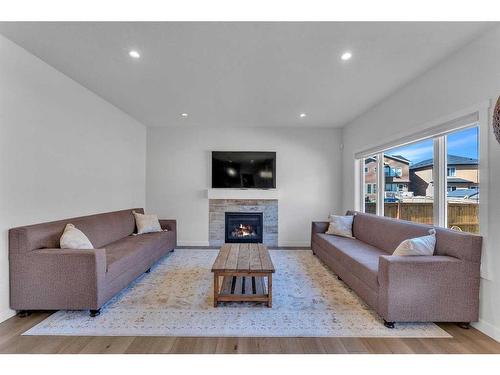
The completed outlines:
<svg viewBox="0 0 500 375">
<path fill-rule="evenodd" d="M 276 151 L 279 245 L 308 246 L 311 221 L 340 208 L 339 129 L 148 128 L 150 212 L 178 220 L 179 245 L 208 245 L 212 150 Z"/>
</svg>

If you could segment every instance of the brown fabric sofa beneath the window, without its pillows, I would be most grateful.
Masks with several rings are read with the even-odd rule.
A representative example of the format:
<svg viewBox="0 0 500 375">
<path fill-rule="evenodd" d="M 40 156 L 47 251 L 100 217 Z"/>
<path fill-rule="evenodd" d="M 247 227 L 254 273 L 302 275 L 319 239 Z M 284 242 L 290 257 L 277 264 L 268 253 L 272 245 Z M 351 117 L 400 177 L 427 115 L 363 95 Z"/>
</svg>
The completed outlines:
<svg viewBox="0 0 500 375">
<path fill-rule="evenodd" d="M 393 256 L 405 239 L 428 234 L 429 225 L 354 214 L 353 235 L 325 234 L 328 222 L 313 222 L 311 247 L 324 263 L 385 320 L 460 322 L 479 317 L 482 237 L 436 229 L 434 256 Z"/>
</svg>

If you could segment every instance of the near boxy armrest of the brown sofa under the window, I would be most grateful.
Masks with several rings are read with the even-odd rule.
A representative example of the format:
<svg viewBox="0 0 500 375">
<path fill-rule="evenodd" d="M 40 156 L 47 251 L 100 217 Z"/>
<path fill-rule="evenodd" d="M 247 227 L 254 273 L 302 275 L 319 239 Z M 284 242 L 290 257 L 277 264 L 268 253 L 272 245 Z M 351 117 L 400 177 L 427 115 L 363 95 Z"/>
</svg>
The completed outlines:
<svg viewBox="0 0 500 375">
<path fill-rule="evenodd" d="M 476 321 L 479 266 L 450 256 L 379 258 L 378 312 L 388 321 Z"/>
</svg>

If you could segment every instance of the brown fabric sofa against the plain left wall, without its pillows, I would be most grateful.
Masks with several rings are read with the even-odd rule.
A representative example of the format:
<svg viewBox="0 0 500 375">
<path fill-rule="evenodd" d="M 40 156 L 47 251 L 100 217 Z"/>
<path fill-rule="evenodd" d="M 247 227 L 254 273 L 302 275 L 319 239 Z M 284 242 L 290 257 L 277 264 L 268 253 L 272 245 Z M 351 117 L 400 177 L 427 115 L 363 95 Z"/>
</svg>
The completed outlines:
<svg viewBox="0 0 500 375">
<path fill-rule="evenodd" d="M 167 232 L 132 236 L 132 211 L 109 212 L 13 228 L 9 231 L 10 306 L 29 310 L 91 310 L 91 315 L 177 243 L 175 220 Z M 67 223 L 82 230 L 94 250 L 60 249 Z"/>
</svg>

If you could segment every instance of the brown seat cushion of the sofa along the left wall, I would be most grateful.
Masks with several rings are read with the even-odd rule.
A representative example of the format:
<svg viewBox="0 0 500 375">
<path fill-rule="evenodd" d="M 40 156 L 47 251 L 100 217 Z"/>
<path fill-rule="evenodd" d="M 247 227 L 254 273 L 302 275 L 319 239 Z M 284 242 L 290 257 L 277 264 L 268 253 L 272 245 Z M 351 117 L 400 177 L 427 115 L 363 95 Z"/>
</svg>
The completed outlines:
<svg viewBox="0 0 500 375">
<path fill-rule="evenodd" d="M 160 256 L 160 249 L 169 240 L 170 232 L 146 233 L 128 236 L 106 246 L 106 278 L 114 279 L 138 264 L 152 264 Z"/>
</svg>

